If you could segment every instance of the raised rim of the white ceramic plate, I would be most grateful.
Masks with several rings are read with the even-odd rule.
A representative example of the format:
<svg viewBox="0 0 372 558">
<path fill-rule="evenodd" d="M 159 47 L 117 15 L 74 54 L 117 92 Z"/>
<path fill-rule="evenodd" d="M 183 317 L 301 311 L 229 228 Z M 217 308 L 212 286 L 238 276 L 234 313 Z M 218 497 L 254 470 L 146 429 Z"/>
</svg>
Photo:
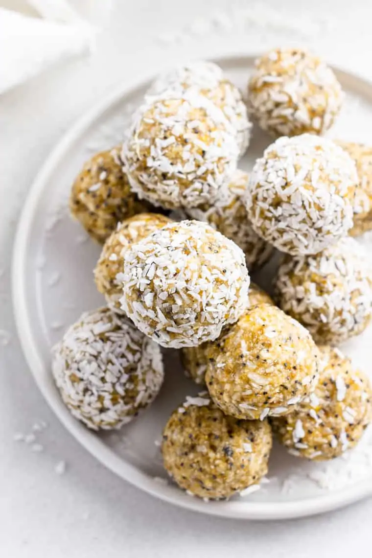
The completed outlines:
<svg viewBox="0 0 372 558">
<path fill-rule="evenodd" d="M 252 59 L 255 57 L 257 57 L 257 54 L 252 54 L 251 52 L 242 54 L 239 52 L 239 54 L 231 53 L 229 55 L 216 56 L 213 57 L 213 60 L 226 64 L 228 62 L 236 62 L 238 60 L 241 62 L 250 59 L 252 63 Z M 362 81 L 364 85 L 372 88 L 371 79 L 361 76 L 355 73 L 355 71 L 342 68 L 337 64 L 331 65 L 339 71 L 339 73 Z M 371 478 L 370 481 L 359 481 L 352 484 L 350 487 L 334 490 L 328 494 L 320 494 L 313 498 L 299 499 L 290 502 L 266 503 L 247 501 L 244 502 L 244 506 L 242 506 L 241 502 L 238 504 L 236 501 L 206 503 L 199 498 L 191 498 L 177 487 L 158 483 L 151 475 L 140 471 L 136 466 L 128 463 L 115 454 L 115 452 L 108 448 L 108 446 L 93 432 L 86 429 L 79 421 L 74 419 L 60 398 L 56 397 L 56 389 L 50 389 L 49 384 L 46 385 L 41 382 L 40 377 L 35 372 L 36 369 L 40 369 L 40 367 L 46 369 L 47 366 L 42 356 L 37 351 L 36 343 L 33 340 L 33 330 L 31 327 L 26 288 L 24 285 L 26 258 L 23 257 L 23 254 L 27 249 L 28 232 L 32 228 L 32 219 L 37 208 L 38 200 L 44 191 L 49 176 L 54 171 L 55 166 L 63 160 L 71 143 L 78 140 L 79 136 L 84 134 L 86 129 L 113 104 L 119 102 L 120 98 L 133 93 L 136 89 L 146 86 L 150 83 L 151 79 L 152 75 L 146 73 L 129 82 L 125 81 L 125 83 L 120 83 L 114 88 L 113 92 L 110 92 L 105 95 L 103 99 L 96 102 L 93 107 L 87 110 L 83 116 L 69 127 L 51 150 L 49 156 L 47 156 L 44 164 L 41 166 L 41 169 L 37 172 L 25 201 L 23 202 L 13 243 L 11 295 L 13 315 L 15 317 L 16 329 L 22 352 L 38 388 L 65 428 L 91 455 L 94 456 L 95 459 L 100 461 L 100 463 L 105 465 L 120 478 L 144 490 L 144 492 L 151 494 L 151 496 L 160 498 L 162 501 L 175 504 L 181 508 L 225 518 L 260 520 L 289 519 L 331 511 L 332 509 L 344 507 L 372 495 Z"/>
</svg>

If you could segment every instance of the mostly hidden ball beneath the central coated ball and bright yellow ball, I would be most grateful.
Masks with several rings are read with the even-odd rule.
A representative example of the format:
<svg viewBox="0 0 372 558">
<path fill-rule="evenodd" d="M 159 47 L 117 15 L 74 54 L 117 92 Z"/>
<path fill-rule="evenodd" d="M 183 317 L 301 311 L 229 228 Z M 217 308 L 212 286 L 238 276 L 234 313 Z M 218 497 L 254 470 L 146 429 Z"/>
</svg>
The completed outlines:
<svg viewBox="0 0 372 558">
<path fill-rule="evenodd" d="M 254 283 L 249 285 L 249 305 L 254 306 L 256 304 L 274 304 L 270 296 L 263 291 L 260 287 Z M 224 331 L 221 333 L 224 335 Z M 219 339 L 215 341 L 206 341 L 197 347 L 184 347 L 181 349 L 181 361 L 183 368 L 185 370 L 186 376 L 194 380 L 195 383 L 199 385 L 205 384 L 205 372 L 207 369 L 208 349 L 216 343 Z"/>
</svg>

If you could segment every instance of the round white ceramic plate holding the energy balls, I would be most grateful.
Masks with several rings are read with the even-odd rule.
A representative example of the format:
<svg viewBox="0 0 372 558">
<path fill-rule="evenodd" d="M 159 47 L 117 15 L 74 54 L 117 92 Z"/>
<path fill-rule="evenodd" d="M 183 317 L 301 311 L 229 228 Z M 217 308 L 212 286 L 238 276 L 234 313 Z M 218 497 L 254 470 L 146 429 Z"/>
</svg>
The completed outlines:
<svg viewBox="0 0 372 558">
<path fill-rule="evenodd" d="M 244 88 L 253 57 L 217 62 L 234 83 Z M 347 103 L 330 136 L 369 142 L 372 85 L 346 72 L 338 74 L 347 92 Z M 185 395 L 197 392 L 183 376 L 175 352 L 165 353 L 166 381 L 156 402 L 119 432 L 95 434 L 76 421 L 62 404 L 50 373 L 50 348 L 82 311 L 104 302 L 95 290 L 92 273 L 99 247 L 70 219 L 67 197 L 86 158 L 120 142 L 147 86 L 148 83 L 125 84 L 81 118 L 51 153 L 28 194 L 15 242 L 13 302 L 23 350 L 38 386 L 71 434 L 109 469 L 153 496 L 185 508 L 224 517 L 288 518 L 335 509 L 372 493 L 367 466 L 372 463 L 372 436 L 368 433 L 348 458 L 329 465 L 303 463 L 281 448 L 274 448 L 270 482 L 244 498 L 204 502 L 166 483 L 160 451 L 154 442 L 160 440 L 173 408 Z M 268 143 L 270 139 L 255 129 L 241 166 L 252 168 Z M 363 242 L 372 247 L 372 240 L 365 237 Z M 269 286 L 271 272 L 269 269 L 260 273 L 263 286 Z M 357 364 L 368 364 L 371 344 L 372 328 L 346 345 L 345 350 Z"/>
</svg>

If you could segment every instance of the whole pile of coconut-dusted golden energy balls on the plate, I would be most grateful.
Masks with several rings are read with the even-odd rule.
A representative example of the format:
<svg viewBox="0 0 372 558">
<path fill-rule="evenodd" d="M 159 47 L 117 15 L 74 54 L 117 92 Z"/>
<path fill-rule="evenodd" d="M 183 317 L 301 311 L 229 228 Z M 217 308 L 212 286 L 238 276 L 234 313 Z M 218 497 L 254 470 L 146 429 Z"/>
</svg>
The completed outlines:
<svg viewBox="0 0 372 558">
<path fill-rule="evenodd" d="M 352 238 L 372 229 L 372 150 L 322 137 L 343 97 L 302 50 L 258 59 L 247 103 L 215 64 L 182 66 L 148 90 L 123 145 L 73 185 L 71 213 L 103 243 L 94 277 L 107 307 L 54 348 L 56 384 L 87 426 L 117 428 L 160 390 L 160 347 L 179 349 L 205 391 L 175 401 L 162 454 L 193 495 L 258 484 L 272 432 L 293 455 L 324 460 L 355 446 L 372 418 L 368 377 L 336 348 L 372 309 Z M 277 137 L 250 176 L 238 169 L 248 115 Z M 272 300 L 250 273 L 275 248 Z"/>
</svg>

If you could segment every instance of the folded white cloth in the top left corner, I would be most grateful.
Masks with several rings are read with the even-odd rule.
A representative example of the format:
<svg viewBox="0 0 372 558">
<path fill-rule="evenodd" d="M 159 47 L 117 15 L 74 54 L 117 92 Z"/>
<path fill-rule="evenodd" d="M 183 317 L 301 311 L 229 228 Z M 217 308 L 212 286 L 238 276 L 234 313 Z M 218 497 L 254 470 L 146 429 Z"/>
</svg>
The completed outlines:
<svg viewBox="0 0 372 558">
<path fill-rule="evenodd" d="M 0 8 L 0 94 L 51 64 L 91 52 L 97 28 L 66 0 L 28 0 L 41 18 Z"/>
</svg>

